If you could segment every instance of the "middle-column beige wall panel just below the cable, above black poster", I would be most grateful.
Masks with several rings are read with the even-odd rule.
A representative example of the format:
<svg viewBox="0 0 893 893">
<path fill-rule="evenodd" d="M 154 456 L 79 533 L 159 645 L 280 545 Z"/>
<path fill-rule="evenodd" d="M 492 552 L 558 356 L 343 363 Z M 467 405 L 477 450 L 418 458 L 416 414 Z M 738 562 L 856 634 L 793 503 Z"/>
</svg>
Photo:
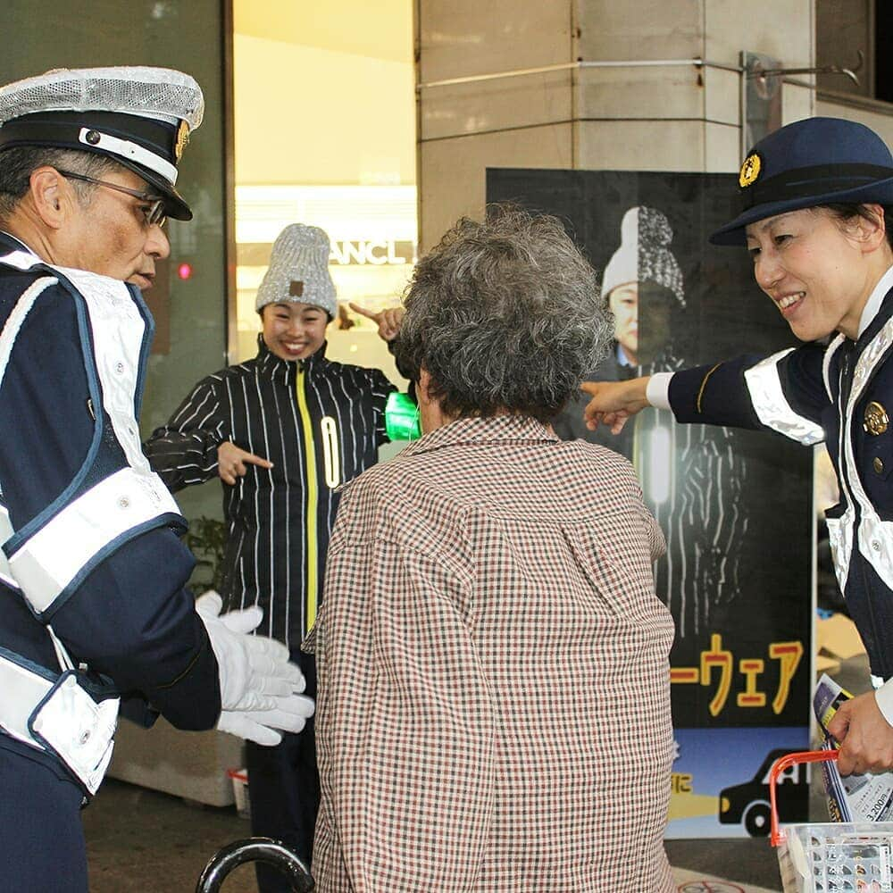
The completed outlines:
<svg viewBox="0 0 893 893">
<path fill-rule="evenodd" d="M 702 121 L 581 121 L 577 133 L 581 170 L 704 170 Z"/>
</svg>

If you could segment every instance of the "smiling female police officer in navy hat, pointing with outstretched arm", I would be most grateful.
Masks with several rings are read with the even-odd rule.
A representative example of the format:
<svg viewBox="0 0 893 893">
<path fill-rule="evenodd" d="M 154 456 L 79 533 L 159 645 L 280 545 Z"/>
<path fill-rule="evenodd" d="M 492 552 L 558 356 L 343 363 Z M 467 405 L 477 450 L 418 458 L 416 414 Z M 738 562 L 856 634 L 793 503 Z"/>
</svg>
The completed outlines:
<svg viewBox="0 0 893 893">
<path fill-rule="evenodd" d="M 739 213 L 714 232 L 746 246 L 757 285 L 801 342 L 672 375 L 587 385 L 590 424 L 647 405 L 677 421 L 824 441 L 840 502 L 831 550 L 876 690 L 830 724 L 842 773 L 893 768 L 893 156 L 854 121 L 812 118 L 762 139 L 739 173 Z M 830 343 L 826 340 L 830 338 Z"/>
</svg>

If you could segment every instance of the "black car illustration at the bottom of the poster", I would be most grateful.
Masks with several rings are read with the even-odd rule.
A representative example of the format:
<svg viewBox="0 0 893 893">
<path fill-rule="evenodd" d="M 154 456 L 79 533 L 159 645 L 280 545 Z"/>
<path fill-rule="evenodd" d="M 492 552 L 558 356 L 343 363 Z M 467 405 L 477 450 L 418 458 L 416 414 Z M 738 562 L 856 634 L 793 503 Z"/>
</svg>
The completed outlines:
<svg viewBox="0 0 893 893">
<path fill-rule="evenodd" d="M 796 747 L 780 747 L 771 750 L 751 780 L 722 789 L 720 823 L 724 825 L 740 823 L 751 837 L 766 837 L 769 834 L 771 816 L 769 771 L 780 756 L 796 749 Z M 779 775 L 777 799 L 780 822 L 805 822 L 809 810 L 807 780 L 805 764 L 789 766 Z"/>
</svg>

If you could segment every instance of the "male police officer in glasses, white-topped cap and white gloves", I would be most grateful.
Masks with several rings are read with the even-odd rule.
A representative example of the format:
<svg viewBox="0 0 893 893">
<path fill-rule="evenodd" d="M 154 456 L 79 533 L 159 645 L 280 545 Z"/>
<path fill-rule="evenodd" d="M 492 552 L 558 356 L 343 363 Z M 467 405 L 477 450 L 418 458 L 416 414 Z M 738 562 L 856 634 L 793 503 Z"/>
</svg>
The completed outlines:
<svg viewBox="0 0 893 893">
<path fill-rule="evenodd" d="M 0 88 L 0 889 L 87 889 L 79 808 L 120 698 L 267 744 L 313 710 L 287 650 L 247 635 L 259 609 L 184 589 L 185 522 L 139 444 L 138 288 L 165 217 L 192 216 L 174 183 L 203 105 L 162 69 Z"/>
</svg>

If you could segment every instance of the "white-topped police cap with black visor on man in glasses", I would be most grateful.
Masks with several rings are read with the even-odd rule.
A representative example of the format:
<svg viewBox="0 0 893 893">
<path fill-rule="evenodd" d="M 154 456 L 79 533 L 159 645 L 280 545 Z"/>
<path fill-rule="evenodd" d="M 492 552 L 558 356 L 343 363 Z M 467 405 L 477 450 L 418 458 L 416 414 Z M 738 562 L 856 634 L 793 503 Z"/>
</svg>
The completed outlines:
<svg viewBox="0 0 893 893">
<path fill-rule="evenodd" d="M 188 221 L 177 164 L 203 114 L 201 88 L 181 71 L 55 69 L 0 88 L 0 152 L 56 146 L 105 155 L 157 189 L 169 217 Z"/>
</svg>

